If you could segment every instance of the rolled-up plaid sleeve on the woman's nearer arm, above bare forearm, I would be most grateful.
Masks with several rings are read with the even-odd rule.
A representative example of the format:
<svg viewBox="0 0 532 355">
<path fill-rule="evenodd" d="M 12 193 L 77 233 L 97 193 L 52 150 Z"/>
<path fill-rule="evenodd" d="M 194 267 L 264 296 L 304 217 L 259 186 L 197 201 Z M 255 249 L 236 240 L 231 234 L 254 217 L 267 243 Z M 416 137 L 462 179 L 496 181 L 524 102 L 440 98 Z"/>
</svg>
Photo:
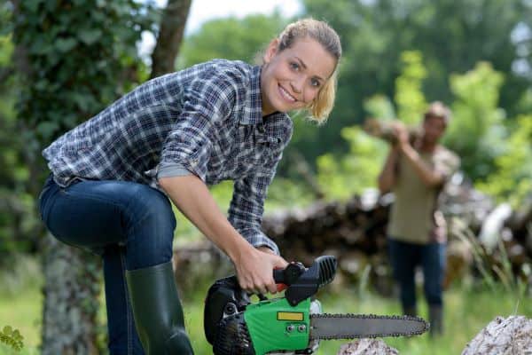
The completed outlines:
<svg viewBox="0 0 532 355">
<path fill-rule="evenodd" d="M 184 91 L 183 108 L 162 148 L 160 164 L 178 163 L 203 181 L 217 122 L 231 114 L 236 83 L 223 73 L 192 81 Z"/>
</svg>

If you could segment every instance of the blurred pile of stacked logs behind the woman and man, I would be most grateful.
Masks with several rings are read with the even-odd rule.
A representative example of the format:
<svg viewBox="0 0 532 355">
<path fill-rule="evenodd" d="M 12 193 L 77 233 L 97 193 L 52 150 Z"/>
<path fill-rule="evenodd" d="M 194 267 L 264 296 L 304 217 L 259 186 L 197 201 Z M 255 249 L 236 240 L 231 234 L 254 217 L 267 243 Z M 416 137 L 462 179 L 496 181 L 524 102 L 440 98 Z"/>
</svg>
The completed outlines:
<svg viewBox="0 0 532 355">
<path fill-rule="evenodd" d="M 389 296 L 393 283 L 386 250 L 386 226 L 392 203 L 392 194 L 379 196 L 376 191 L 369 190 L 348 201 L 317 201 L 305 209 L 272 213 L 264 217 L 262 230 L 278 243 L 286 260 L 309 265 L 317 256 L 336 256 L 339 261 L 336 284 L 369 280 L 375 290 Z M 473 264 L 471 243 L 458 234 L 469 233 L 477 238 L 495 206 L 488 197 L 458 180 L 449 184 L 442 194 L 442 207 L 450 221 L 448 274 L 445 279 L 446 285 L 449 285 L 469 272 Z M 497 235 L 502 236 L 503 251 L 516 273 L 532 259 L 531 210 L 532 203 L 528 209 L 512 212 L 502 230 L 497 231 Z M 497 249 L 489 255 L 488 262 L 502 264 L 504 255 L 500 251 Z M 231 265 L 228 267 L 227 260 L 207 242 L 177 249 L 176 268 L 186 271 L 190 265 L 196 264 L 192 260 L 208 258 L 214 262 L 218 274 L 220 270 L 226 274 L 231 272 Z M 200 266 L 198 272 L 205 273 L 205 268 Z M 187 282 L 186 278 L 183 282 Z"/>
</svg>

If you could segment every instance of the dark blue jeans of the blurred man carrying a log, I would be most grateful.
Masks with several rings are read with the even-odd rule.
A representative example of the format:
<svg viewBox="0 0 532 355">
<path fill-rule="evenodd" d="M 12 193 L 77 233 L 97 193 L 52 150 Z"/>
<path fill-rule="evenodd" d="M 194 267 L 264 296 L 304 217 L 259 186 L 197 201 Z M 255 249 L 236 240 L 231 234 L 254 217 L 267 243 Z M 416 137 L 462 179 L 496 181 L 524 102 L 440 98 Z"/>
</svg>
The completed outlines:
<svg viewBox="0 0 532 355">
<path fill-rule="evenodd" d="M 415 269 L 418 265 L 423 271 L 423 289 L 429 305 L 442 306 L 442 282 L 445 273 L 445 244 L 414 244 L 388 238 L 388 252 L 399 284 L 403 310 L 416 306 Z"/>
</svg>

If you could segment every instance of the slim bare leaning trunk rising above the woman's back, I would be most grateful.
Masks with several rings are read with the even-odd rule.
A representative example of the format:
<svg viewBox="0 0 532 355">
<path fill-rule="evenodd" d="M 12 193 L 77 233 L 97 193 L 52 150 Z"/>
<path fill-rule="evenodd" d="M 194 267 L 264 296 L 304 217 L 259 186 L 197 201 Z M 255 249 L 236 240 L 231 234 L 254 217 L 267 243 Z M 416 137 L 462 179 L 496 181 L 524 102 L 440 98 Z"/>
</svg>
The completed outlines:
<svg viewBox="0 0 532 355">
<path fill-rule="evenodd" d="M 184 25 L 191 2 L 192 0 L 168 0 L 167 7 L 162 13 L 159 36 L 152 53 L 151 78 L 175 70 L 174 64 L 183 39 Z"/>
</svg>

